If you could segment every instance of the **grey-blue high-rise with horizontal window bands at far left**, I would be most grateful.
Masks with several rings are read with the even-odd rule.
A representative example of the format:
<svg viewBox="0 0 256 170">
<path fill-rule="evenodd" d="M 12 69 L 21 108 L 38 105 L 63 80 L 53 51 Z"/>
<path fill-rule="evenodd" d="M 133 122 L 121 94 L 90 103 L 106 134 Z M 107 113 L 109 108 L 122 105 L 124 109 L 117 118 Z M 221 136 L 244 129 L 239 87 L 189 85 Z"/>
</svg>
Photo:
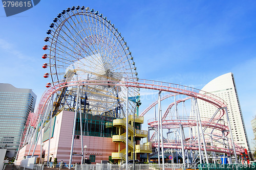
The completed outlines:
<svg viewBox="0 0 256 170">
<path fill-rule="evenodd" d="M 36 95 L 31 89 L 0 83 L 0 147 L 6 156 L 15 156 L 29 112 L 35 108 Z"/>
</svg>

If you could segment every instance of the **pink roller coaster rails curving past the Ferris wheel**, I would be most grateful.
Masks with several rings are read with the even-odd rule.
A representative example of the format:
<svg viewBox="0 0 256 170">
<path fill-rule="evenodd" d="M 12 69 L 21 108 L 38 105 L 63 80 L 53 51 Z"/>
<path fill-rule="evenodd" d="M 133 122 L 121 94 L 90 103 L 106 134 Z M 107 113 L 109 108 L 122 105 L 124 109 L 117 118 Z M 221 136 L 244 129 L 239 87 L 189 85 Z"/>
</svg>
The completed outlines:
<svg viewBox="0 0 256 170">
<path fill-rule="evenodd" d="M 110 80 L 79 80 L 79 81 L 71 81 L 71 82 L 62 82 L 59 83 L 55 86 L 52 86 L 48 88 L 45 93 L 42 95 L 40 102 L 38 104 L 37 110 L 35 112 L 36 117 L 32 120 L 31 125 L 36 125 L 37 119 L 40 114 L 44 114 L 46 110 L 46 106 L 50 101 L 51 95 L 55 94 L 58 90 L 64 87 L 70 87 L 70 86 L 78 86 L 78 85 L 102 85 L 102 86 L 123 86 L 123 87 L 134 87 L 134 88 L 144 88 L 144 89 L 152 89 L 152 90 L 158 90 L 158 91 L 166 91 L 170 92 L 172 94 L 166 95 L 162 100 L 168 98 L 169 96 L 174 96 L 176 94 L 183 94 L 189 96 L 188 98 L 197 98 L 200 100 L 203 100 L 205 102 L 208 102 L 212 105 L 214 105 L 216 108 L 225 108 L 226 103 L 223 101 L 221 98 L 219 98 L 216 95 L 210 94 L 205 91 L 201 91 L 199 89 L 187 87 L 187 86 L 182 86 L 178 84 L 172 84 L 172 83 L 164 83 L 164 82 L 158 82 L 158 81 L 152 81 L 152 80 L 139 80 L 137 82 L 133 82 L 130 80 L 127 81 L 110 81 Z M 179 101 L 179 102 L 182 102 Z M 169 107 L 172 107 L 174 104 L 171 104 Z M 154 106 L 151 105 L 150 107 L 152 108 Z M 146 109 L 141 115 L 144 115 L 148 110 L 151 108 Z M 168 110 L 168 109 L 167 109 Z M 167 110 L 164 114 L 163 118 L 166 118 Z M 220 114 L 216 115 L 215 120 L 221 118 L 225 114 L 225 109 L 220 109 Z M 183 122 L 182 122 L 183 121 Z M 153 121 L 149 123 L 151 126 L 156 126 L 156 122 Z M 182 124 L 182 125 L 187 125 L 187 126 L 195 126 L 196 122 L 194 120 L 180 120 L 177 122 L 177 120 L 164 120 L 163 125 L 168 127 L 169 125 L 175 126 L 176 124 Z M 28 126 L 29 124 L 26 124 Z M 219 130 L 227 130 L 228 127 L 223 126 L 221 124 L 215 124 L 209 121 L 202 122 L 203 127 L 210 127 L 210 128 L 216 128 Z M 22 139 L 24 140 L 26 132 L 24 131 Z M 22 140 L 22 142 L 23 142 Z M 190 144 L 189 144 L 190 145 Z M 153 146 L 157 146 L 157 143 L 153 143 Z M 164 143 L 165 148 L 173 148 L 175 147 L 174 143 Z M 180 149 L 180 146 L 176 146 L 177 149 Z M 212 147 L 210 147 L 212 148 Z M 186 147 L 186 149 L 193 149 L 193 150 L 198 150 L 198 145 L 195 145 L 194 147 Z M 224 148 L 219 148 L 220 150 L 216 149 L 207 149 L 207 151 L 214 151 L 214 152 L 221 152 L 221 153 L 229 153 L 226 151 Z M 238 148 L 239 149 L 239 148 Z M 240 149 L 238 150 L 240 152 Z"/>
</svg>

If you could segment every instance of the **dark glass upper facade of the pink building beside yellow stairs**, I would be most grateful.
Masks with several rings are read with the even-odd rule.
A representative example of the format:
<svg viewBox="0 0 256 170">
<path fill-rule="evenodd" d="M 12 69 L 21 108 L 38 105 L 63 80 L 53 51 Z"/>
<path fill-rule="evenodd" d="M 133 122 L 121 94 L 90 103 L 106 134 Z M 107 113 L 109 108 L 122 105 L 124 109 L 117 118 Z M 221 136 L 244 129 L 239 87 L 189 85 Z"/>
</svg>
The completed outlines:
<svg viewBox="0 0 256 170">
<path fill-rule="evenodd" d="M 75 135 L 80 135 L 79 113 L 77 113 L 77 117 Z M 116 135 L 116 127 L 113 127 L 113 119 L 115 117 L 82 113 L 83 135 L 99 137 L 112 137 L 112 135 Z"/>
</svg>

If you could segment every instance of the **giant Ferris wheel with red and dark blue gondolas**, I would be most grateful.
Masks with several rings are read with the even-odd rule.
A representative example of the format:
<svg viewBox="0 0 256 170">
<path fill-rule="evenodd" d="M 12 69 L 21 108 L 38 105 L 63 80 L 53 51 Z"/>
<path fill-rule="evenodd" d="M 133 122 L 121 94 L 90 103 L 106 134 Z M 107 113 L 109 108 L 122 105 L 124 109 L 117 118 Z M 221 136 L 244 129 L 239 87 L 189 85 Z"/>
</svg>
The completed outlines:
<svg viewBox="0 0 256 170">
<path fill-rule="evenodd" d="M 42 67 L 50 68 L 44 77 L 52 80 L 46 87 L 77 80 L 138 80 L 129 46 L 114 24 L 98 11 L 73 6 L 59 13 L 49 27 L 45 41 L 50 44 L 42 47 L 46 51 L 42 58 L 48 59 Z M 84 102 L 84 108 L 87 106 L 87 111 L 93 114 L 117 113 L 117 108 L 121 110 L 120 105 L 125 100 L 124 88 L 111 83 L 109 86 L 83 87 L 82 93 L 86 94 L 84 100 L 88 102 Z M 77 88 L 65 90 L 59 91 L 59 95 L 74 96 Z M 138 95 L 138 89 L 131 88 L 129 96 L 134 98 Z M 58 98 L 56 102 L 62 103 L 58 110 L 72 110 L 71 106 L 67 106 L 69 102 L 65 104 L 65 98 Z M 135 108 L 136 104 L 132 103 Z"/>
</svg>

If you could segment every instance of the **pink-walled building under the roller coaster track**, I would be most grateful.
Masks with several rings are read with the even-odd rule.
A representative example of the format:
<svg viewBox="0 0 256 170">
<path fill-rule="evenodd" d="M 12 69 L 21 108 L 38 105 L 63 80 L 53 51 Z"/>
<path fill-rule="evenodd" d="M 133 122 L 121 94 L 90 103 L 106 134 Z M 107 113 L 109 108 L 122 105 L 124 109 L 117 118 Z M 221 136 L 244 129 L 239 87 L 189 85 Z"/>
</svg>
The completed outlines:
<svg viewBox="0 0 256 170">
<path fill-rule="evenodd" d="M 50 138 L 49 161 L 53 162 L 54 158 L 57 158 L 58 162 L 63 160 L 63 162 L 67 164 L 69 163 L 74 117 L 75 113 L 72 111 L 61 111 L 52 119 L 51 131 L 53 131 L 53 134 Z M 44 143 L 44 146 L 42 147 L 42 157 L 44 158 L 44 161 L 47 161 L 48 159 L 49 149 L 49 137 L 45 139 L 47 135 L 49 136 L 49 132 L 44 133 L 46 127 L 42 129 L 42 134 L 44 134 L 44 136 L 42 137 L 42 141 Z M 118 152 L 118 143 L 113 142 L 112 137 L 98 137 L 86 135 L 83 135 L 82 137 L 83 143 L 81 144 L 81 136 L 75 135 L 73 154 L 81 155 L 82 149 L 84 151 L 84 145 L 87 145 L 87 149 L 84 155 L 86 159 L 91 158 L 91 160 L 93 160 L 93 164 L 100 163 L 101 160 L 109 160 L 111 159 L 112 152 Z M 42 142 L 39 139 L 36 147 L 36 152 L 34 154 L 38 155 L 38 157 L 40 157 L 39 155 L 41 143 Z M 16 162 L 17 165 L 20 164 L 20 161 L 24 158 L 24 156 L 28 155 L 29 148 L 29 145 L 25 145 L 25 147 L 20 149 Z M 32 147 L 30 155 L 33 152 L 33 148 L 34 147 Z M 125 145 L 121 143 L 120 148 L 125 148 Z M 81 160 L 82 156 L 72 156 L 72 164 L 81 163 Z"/>
</svg>

